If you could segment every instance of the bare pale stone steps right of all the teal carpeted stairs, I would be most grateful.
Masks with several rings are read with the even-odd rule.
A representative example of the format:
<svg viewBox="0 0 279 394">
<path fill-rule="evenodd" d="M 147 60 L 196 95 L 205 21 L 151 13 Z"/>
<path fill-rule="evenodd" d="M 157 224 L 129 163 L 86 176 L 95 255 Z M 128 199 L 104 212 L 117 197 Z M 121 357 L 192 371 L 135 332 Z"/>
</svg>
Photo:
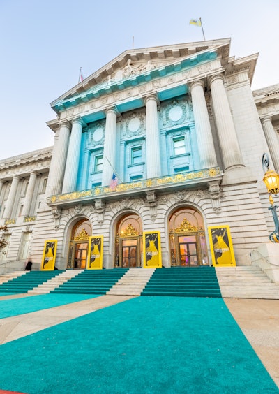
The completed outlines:
<svg viewBox="0 0 279 394">
<path fill-rule="evenodd" d="M 279 284 L 255 266 L 216 267 L 223 298 L 279 299 Z"/>
</svg>

